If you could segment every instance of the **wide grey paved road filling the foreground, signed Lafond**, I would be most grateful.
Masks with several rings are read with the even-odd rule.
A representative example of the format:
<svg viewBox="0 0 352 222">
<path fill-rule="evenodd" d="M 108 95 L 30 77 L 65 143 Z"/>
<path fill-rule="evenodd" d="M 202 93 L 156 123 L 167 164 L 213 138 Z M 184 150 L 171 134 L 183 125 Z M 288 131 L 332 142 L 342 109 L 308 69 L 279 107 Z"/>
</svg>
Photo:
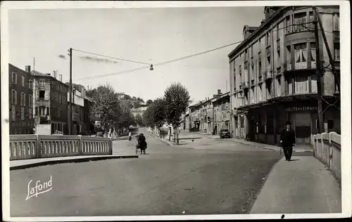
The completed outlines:
<svg viewBox="0 0 352 222">
<path fill-rule="evenodd" d="M 234 143 L 177 148 L 144 134 L 149 148 L 138 159 L 11 171 L 11 216 L 247 214 L 280 158 Z M 135 143 L 114 141 L 114 152 L 134 153 Z M 30 180 L 50 176 L 52 190 L 25 200 Z"/>
</svg>

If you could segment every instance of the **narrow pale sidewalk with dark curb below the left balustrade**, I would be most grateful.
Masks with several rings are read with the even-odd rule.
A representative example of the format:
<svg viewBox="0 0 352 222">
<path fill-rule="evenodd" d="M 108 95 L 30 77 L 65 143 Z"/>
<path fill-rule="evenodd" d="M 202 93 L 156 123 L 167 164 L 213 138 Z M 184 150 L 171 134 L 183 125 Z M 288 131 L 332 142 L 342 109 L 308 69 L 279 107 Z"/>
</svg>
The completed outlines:
<svg viewBox="0 0 352 222">
<path fill-rule="evenodd" d="M 73 162 L 89 162 L 101 159 L 125 159 L 125 158 L 138 158 L 138 155 L 84 155 L 72 157 L 51 157 L 51 158 L 38 158 L 38 159 L 18 159 L 10 161 L 10 170 L 26 169 L 36 166 L 44 166 L 51 164 L 63 164 Z"/>
</svg>

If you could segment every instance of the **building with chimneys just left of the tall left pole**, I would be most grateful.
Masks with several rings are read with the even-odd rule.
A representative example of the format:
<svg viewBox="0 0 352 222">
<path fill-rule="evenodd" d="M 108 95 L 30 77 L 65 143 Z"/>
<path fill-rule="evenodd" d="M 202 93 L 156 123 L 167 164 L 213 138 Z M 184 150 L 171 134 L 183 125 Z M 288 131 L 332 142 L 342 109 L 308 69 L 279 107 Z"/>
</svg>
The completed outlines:
<svg viewBox="0 0 352 222">
<path fill-rule="evenodd" d="M 68 133 L 68 86 L 62 82 L 62 75 L 32 71 L 34 78 L 34 117 L 37 124 L 51 124 L 51 133 Z"/>
</svg>

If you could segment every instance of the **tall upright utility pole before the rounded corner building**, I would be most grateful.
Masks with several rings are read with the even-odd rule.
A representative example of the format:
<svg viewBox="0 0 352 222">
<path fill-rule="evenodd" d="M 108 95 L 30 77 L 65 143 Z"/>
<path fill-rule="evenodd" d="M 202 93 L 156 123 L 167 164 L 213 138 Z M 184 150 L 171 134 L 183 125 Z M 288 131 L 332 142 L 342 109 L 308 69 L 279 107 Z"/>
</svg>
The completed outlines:
<svg viewBox="0 0 352 222">
<path fill-rule="evenodd" d="M 318 85 L 318 119 L 319 119 L 319 133 L 324 132 L 324 119 L 322 113 L 322 81 L 321 81 L 321 62 L 320 62 L 320 42 L 318 33 L 318 15 L 313 7 L 314 13 L 314 32 L 315 32 L 315 60 L 316 60 L 316 71 L 317 71 L 317 85 Z"/>
</svg>

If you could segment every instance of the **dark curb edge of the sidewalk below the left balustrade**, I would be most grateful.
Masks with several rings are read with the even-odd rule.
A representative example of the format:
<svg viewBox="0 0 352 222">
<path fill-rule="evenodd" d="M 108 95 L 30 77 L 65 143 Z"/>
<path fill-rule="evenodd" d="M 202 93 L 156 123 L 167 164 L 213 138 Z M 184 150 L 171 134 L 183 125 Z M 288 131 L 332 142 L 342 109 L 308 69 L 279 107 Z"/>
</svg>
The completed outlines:
<svg viewBox="0 0 352 222">
<path fill-rule="evenodd" d="M 47 160 L 43 162 L 36 162 L 32 164 L 23 164 L 20 166 L 10 166 L 10 170 L 16 169 L 27 169 L 37 166 L 53 165 L 53 164 L 66 164 L 66 163 L 78 163 L 78 162 L 89 162 L 97 161 L 102 159 L 130 159 L 138 158 L 138 155 L 125 155 L 125 156 L 106 156 L 106 157 L 82 157 L 77 159 L 56 159 L 56 160 Z"/>
</svg>

